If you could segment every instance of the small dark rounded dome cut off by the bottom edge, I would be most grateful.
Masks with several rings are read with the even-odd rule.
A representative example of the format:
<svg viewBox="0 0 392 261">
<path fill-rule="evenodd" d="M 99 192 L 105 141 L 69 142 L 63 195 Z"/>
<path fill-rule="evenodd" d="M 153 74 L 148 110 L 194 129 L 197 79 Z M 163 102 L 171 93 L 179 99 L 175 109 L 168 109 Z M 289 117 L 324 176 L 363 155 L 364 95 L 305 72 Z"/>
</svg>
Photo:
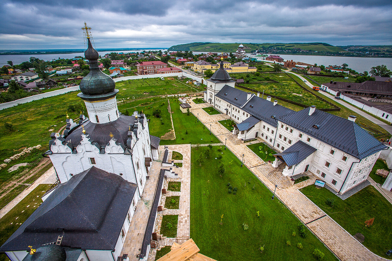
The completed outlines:
<svg viewBox="0 0 392 261">
<path fill-rule="evenodd" d="M 58 245 L 45 245 L 38 247 L 33 255 L 27 254 L 23 261 L 65 261 L 67 254 L 64 248 Z"/>
</svg>

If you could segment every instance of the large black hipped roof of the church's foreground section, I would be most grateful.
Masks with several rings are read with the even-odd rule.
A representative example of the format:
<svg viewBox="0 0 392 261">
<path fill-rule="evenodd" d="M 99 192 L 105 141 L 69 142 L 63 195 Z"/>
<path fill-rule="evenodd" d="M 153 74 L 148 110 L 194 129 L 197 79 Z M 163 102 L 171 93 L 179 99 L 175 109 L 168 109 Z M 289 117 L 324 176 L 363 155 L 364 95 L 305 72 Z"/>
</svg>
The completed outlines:
<svg viewBox="0 0 392 261">
<path fill-rule="evenodd" d="M 114 250 L 136 187 L 96 167 L 76 174 L 58 185 L 0 251 L 36 248 L 58 236 L 64 236 L 64 247 Z"/>
</svg>

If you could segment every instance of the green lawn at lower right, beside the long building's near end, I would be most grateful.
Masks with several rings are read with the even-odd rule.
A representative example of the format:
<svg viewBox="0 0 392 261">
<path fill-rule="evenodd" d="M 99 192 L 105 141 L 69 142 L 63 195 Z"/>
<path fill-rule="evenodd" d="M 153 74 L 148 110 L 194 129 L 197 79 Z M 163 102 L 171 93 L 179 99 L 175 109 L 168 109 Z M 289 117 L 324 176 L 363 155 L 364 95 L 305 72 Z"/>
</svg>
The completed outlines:
<svg viewBox="0 0 392 261">
<path fill-rule="evenodd" d="M 348 233 L 363 234 L 365 236 L 363 245 L 370 251 L 381 257 L 391 258 L 386 256 L 385 252 L 390 249 L 389 243 L 392 241 L 390 233 L 392 205 L 372 185 L 344 201 L 328 189 L 318 189 L 315 185 L 300 190 Z M 325 203 L 327 198 L 335 200 L 332 208 Z M 374 218 L 374 223 L 371 227 L 366 227 L 365 221 L 370 218 Z"/>
</svg>

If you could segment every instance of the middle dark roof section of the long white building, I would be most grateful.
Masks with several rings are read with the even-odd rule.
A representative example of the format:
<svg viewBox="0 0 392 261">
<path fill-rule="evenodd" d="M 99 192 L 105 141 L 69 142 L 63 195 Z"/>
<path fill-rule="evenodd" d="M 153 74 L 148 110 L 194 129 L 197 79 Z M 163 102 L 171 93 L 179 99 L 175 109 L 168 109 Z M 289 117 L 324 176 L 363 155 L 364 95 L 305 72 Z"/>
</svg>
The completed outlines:
<svg viewBox="0 0 392 261">
<path fill-rule="evenodd" d="M 246 95 L 246 92 L 244 92 Z M 283 115 L 289 115 L 294 113 L 293 110 L 290 110 L 286 107 L 283 107 L 279 104 L 274 106 L 273 102 L 267 101 L 266 99 L 253 96 L 250 100 L 241 107 L 245 112 L 249 112 L 254 117 L 271 124 L 271 126 L 276 127 L 277 122 L 275 119 L 281 117 Z M 271 118 L 274 116 L 275 119 Z"/>
</svg>

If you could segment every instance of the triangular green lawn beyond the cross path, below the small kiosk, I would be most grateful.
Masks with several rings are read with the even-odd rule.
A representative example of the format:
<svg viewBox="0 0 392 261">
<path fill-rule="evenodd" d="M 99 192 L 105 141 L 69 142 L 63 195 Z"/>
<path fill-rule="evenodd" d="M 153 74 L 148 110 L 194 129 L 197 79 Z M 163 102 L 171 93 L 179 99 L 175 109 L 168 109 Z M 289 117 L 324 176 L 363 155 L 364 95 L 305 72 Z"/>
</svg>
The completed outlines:
<svg viewBox="0 0 392 261">
<path fill-rule="evenodd" d="M 210 126 L 204 126 L 196 117 L 190 113 L 182 113 L 178 106 L 177 99 L 170 100 L 174 130 L 176 131 L 175 140 L 161 140 L 160 145 L 168 144 L 203 144 L 220 142 L 214 134 L 210 135 Z M 203 129 L 204 127 L 204 129 Z M 188 134 L 186 134 L 188 131 Z"/>
</svg>

